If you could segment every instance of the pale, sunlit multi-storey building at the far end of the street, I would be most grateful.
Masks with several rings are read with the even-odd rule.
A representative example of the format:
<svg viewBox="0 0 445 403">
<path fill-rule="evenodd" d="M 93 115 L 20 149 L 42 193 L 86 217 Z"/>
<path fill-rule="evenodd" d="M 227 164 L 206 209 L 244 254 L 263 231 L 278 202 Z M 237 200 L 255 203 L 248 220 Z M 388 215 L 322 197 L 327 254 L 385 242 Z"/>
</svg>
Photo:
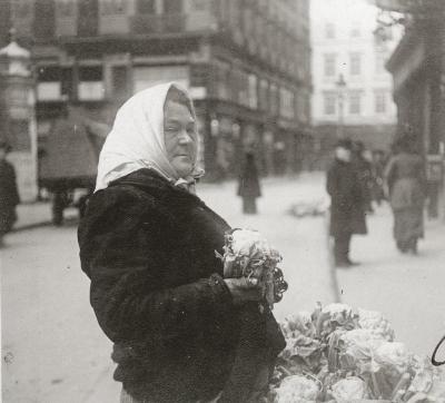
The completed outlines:
<svg viewBox="0 0 445 403">
<path fill-rule="evenodd" d="M 366 0 L 313 0 L 313 124 L 325 148 L 338 137 L 388 149 L 396 124 L 385 62 L 397 43 L 375 36 L 378 9 Z M 323 146 L 323 145 L 322 145 Z"/>
</svg>

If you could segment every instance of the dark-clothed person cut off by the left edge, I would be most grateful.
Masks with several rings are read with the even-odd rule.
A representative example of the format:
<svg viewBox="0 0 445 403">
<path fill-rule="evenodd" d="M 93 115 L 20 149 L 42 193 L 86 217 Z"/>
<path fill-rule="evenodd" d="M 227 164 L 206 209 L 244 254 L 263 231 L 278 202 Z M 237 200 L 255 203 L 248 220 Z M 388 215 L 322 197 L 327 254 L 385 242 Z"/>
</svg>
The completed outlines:
<svg viewBox="0 0 445 403">
<path fill-rule="evenodd" d="M 7 160 L 11 147 L 6 141 L 0 141 L 0 246 L 3 237 L 17 222 L 16 207 L 20 203 L 17 189 L 16 170 Z"/>
</svg>

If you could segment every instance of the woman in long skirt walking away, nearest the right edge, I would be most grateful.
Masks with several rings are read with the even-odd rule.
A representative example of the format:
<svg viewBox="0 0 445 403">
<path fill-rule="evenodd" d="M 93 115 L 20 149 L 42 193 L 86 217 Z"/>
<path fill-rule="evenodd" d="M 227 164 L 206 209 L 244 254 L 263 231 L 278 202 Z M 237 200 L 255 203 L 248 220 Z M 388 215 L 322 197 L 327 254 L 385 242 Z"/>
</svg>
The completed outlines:
<svg viewBox="0 0 445 403">
<path fill-rule="evenodd" d="M 402 253 L 417 253 L 424 236 L 425 166 L 415 138 L 407 131 L 395 142 L 385 169 L 385 181 L 394 215 L 394 238 Z"/>
</svg>

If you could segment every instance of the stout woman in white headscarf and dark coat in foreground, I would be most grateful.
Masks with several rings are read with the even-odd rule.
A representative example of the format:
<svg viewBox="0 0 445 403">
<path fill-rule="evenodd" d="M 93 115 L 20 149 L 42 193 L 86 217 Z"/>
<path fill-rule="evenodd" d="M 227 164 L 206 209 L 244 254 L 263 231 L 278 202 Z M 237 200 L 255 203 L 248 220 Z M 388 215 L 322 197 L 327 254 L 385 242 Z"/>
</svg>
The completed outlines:
<svg viewBox="0 0 445 403">
<path fill-rule="evenodd" d="M 197 151 L 191 100 L 167 83 L 120 108 L 100 155 L 80 258 L 121 402 L 246 402 L 284 347 L 258 285 L 221 276 L 229 226 L 194 194 Z"/>
</svg>

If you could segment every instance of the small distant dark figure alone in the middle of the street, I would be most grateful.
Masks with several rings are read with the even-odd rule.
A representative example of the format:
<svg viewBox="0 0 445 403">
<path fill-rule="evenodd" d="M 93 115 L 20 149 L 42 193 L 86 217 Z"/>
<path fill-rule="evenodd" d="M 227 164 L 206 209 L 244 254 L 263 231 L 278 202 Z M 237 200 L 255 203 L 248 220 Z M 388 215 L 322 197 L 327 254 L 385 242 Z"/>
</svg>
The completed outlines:
<svg viewBox="0 0 445 403">
<path fill-rule="evenodd" d="M 243 213 L 257 214 L 257 197 L 261 196 L 258 169 L 253 151 L 246 153 L 246 158 L 239 175 L 238 196 L 243 198 Z"/>
</svg>

